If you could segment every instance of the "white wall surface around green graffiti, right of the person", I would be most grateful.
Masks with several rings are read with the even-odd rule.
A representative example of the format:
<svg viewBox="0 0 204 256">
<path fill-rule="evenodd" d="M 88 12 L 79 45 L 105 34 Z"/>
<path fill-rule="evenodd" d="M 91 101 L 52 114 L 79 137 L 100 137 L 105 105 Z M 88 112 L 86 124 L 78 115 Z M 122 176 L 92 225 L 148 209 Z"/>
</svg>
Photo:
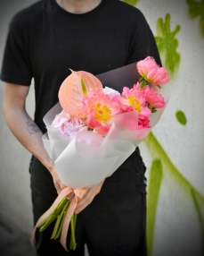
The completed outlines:
<svg viewBox="0 0 204 256">
<path fill-rule="evenodd" d="M 175 168 L 164 166 L 152 255 L 203 255 L 203 228 L 191 195 L 192 186 L 200 192 L 202 199 L 204 196 L 204 37 L 201 37 L 199 17 L 189 18 L 184 0 L 143 0 L 136 6 L 149 21 L 154 35 L 157 35 L 158 19 L 164 19 L 166 13 L 170 13 L 171 30 L 175 30 L 176 25 L 181 26 L 175 36 L 179 42 L 177 51 L 181 54 L 181 63 L 170 82 L 171 98 L 153 133 L 183 177 L 176 180 L 173 175 Z M 186 125 L 177 122 L 177 110 L 184 111 Z M 149 176 L 152 157 L 159 156 L 150 154 L 144 143 L 141 149 Z M 162 160 L 162 156 L 160 158 Z M 202 200 L 202 223 L 203 209 Z"/>
</svg>

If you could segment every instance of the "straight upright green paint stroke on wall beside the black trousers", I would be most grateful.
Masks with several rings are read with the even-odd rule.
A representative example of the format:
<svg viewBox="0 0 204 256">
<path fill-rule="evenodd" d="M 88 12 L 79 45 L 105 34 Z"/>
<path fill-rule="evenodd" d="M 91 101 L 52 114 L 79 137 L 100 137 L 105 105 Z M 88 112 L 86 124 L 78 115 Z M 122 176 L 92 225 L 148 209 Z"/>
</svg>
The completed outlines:
<svg viewBox="0 0 204 256">
<path fill-rule="evenodd" d="M 151 255 L 154 227 L 156 222 L 157 206 L 159 201 L 159 191 L 162 181 L 162 165 L 159 159 L 154 159 L 151 164 L 149 185 L 148 185 L 148 201 L 147 201 L 147 243 L 148 255 Z"/>
</svg>

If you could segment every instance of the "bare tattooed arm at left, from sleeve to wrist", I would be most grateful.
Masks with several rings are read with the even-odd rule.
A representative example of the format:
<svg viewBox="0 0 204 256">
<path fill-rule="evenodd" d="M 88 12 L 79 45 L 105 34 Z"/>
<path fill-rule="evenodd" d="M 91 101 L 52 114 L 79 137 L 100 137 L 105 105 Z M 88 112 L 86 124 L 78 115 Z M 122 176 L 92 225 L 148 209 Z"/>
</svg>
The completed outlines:
<svg viewBox="0 0 204 256">
<path fill-rule="evenodd" d="M 53 183 L 57 192 L 61 192 L 64 185 L 49 158 L 42 141 L 43 133 L 26 111 L 25 102 L 29 93 L 29 86 L 5 83 L 4 88 L 4 118 L 13 135 L 47 168 L 53 176 Z"/>
</svg>

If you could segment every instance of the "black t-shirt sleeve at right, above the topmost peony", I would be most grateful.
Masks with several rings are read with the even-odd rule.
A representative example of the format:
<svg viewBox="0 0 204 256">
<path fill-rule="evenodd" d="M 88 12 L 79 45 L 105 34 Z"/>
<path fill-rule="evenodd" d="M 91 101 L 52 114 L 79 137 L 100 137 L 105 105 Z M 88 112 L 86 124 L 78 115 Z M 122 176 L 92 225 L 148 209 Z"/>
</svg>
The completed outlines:
<svg viewBox="0 0 204 256">
<path fill-rule="evenodd" d="M 132 40 L 127 64 L 140 61 L 148 55 L 152 56 L 159 66 L 162 65 L 151 28 L 144 18 L 143 13 L 137 9 L 135 23 L 132 25 Z"/>
</svg>

